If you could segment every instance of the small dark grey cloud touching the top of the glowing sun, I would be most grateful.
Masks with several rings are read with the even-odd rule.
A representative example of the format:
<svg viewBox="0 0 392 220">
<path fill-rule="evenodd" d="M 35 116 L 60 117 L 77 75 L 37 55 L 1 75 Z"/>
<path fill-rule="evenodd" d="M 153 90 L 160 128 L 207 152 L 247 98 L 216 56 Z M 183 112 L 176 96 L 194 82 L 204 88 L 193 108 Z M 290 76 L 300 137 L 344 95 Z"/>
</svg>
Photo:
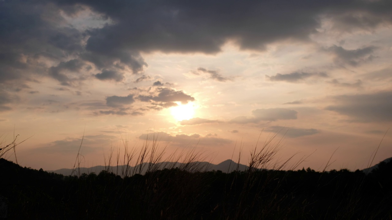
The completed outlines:
<svg viewBox="0 0 392 220">
<path fill-rule="evenodd" d="M 185 94 L 182 90 L 176 91 L 172 88 L 158 88 L 156 94 L 149 96 L 139 95 L 137 98 L 143 102 L 154 101 L 165 107 L 173 106 L 173 104 L 175 104 L 174 102 L 186 104 L 189 101 L 195 100 L 194 97 Z"/>
</svg>

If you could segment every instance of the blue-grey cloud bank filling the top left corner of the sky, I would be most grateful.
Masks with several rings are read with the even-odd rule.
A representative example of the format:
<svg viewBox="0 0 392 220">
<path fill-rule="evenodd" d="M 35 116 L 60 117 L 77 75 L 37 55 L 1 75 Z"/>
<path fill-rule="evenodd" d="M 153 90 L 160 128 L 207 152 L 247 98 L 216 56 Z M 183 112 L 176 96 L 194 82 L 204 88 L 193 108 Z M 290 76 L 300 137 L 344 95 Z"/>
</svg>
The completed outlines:
<svg viewBox="0 0 392 220">
<path fill-rule="evenodd" d="M 82 50 L 83 34 L 62 25 L 59 8 L 47 1 L 0 1 L 0 81 L 32 81 L 47 66 Z M 66 82 L 66 77 L 52 77 Z"/>
</svg>

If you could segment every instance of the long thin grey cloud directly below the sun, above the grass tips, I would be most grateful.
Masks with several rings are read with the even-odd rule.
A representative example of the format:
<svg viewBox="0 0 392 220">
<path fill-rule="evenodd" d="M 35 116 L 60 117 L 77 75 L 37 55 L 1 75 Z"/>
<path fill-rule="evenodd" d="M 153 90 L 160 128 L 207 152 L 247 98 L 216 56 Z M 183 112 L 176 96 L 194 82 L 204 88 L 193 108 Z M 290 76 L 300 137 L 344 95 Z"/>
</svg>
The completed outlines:
<svg viewBox="0 0 392 220">
<path fill-rule="evenodd" d="M 152 140 L 153 137 L 155 137 L 155 139 L 157 139 L 158 141 L 172 142 L 175 144 L 182 145 L 184 147 L 189 144 L 198 144 L 199 146 L 202 145 L 220 146 L 225 144 L 231 144 L 233 142 L 229 139 L 216 137 L 216 135 L 211 134 L 202 137 L 200 134 L 197 133 L 194 133 L 192 135 L 187 135 L 187 134 L 170 135 L 165 132 L 156 132 L 156 133 L 149 133 L 148 135 L 142 134 L 139 136 L 139 139 Z"/>
</svg>

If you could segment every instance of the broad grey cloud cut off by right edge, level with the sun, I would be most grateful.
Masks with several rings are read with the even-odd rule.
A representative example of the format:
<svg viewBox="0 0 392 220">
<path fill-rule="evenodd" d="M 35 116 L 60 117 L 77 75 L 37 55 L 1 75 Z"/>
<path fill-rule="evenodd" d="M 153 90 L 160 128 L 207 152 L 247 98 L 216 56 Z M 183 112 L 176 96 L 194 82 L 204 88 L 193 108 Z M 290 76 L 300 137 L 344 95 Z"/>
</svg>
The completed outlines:
<svg viewBox="0 0 392 220">
<path fill-rule="evenodd" d="M 392 91 L 334 96 L 325 109 L 347 115 L 359 122 L 392 121 Z"/>
</svg>

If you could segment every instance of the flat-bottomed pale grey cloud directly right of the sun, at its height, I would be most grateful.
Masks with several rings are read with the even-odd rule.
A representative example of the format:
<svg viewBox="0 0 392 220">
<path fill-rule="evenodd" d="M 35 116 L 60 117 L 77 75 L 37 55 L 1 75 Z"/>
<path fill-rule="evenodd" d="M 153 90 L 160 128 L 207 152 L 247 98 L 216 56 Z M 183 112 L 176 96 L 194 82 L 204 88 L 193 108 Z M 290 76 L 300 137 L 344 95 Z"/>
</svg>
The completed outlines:
<svg viewBox="0 0 392 220">
<path fill-rule="evenodd" d="M 297 111 L 287 108 L 261 108 L 252 111 L 253 117 L 239 116 L 232 120 L 231 123 L 246 124 L 259 123 L 260 121 L 278 121 L 297 119 Z"/>
</svg>

